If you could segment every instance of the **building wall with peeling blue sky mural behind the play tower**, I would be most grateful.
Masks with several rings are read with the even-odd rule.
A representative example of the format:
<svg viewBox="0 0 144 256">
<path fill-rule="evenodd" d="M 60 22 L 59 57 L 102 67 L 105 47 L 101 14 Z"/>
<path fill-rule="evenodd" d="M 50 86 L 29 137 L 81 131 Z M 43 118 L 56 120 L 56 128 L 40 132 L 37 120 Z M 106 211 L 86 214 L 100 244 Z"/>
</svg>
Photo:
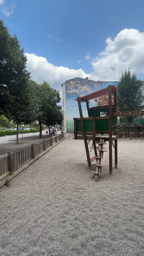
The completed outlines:
<svg viewBox="0 0 144 256">
<path fill-rule="evenodd" d="M 142 91 L 144 95 L 144 81 L 142 82 Z M 62 84 L 62 106 L 63 106 L 63 131 L 64 133 L 73 133 L 74 131 L 74 121 L 73 118 L 79 118 L 78 102 L 75 101 L 77 97 L 82 97 L 94 91 L 101 90 L 108 87 L 108 85 L 118 85 L 117 81 L 92 81 L 88 77 L 83 78 L 73 78 L 65 81 Z M 113 101 L 113 100 L 112 100 Z M 112 102 L 113 104 L 113 102 Z M 104 106 L 108 105 L 108 95 L 103 97 L 98 97 L 91 100 L 89 103 L 90 107 Z M 87 117 L 88 112 L 86 108 L 86 103 L 82 104 L 83 116 Z"/>
</svg>

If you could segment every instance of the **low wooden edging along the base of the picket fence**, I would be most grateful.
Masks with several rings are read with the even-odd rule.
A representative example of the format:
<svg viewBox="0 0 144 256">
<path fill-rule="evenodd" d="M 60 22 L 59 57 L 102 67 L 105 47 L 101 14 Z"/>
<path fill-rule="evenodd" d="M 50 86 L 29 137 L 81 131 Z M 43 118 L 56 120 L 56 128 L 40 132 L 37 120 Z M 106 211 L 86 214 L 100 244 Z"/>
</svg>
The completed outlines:
<svg viewBox="0 0 144 256">
<path fill-rule="evenodd" d="M 24 171 L 26 168 L 28 168 L 32 163 L 34 163 L 36 160 L 38 160 L 41 156 L 43 156 L 44 154 L 46 154 L 50 149 L 54 148 L 57 144 L 59 144 L 60 142 L 62 142 L 65 138 L 62 138 L 61 141 L 55 143 L 53 146 L 49 147 L 48 149 L 46 149 L 46 151 L 40 153 L 38 156 L 36 156 L 34 159 L 30 160 L 28 163 L 26 163 L 25 165 L 23 165 L 22 167 L 20 167 L 19 169 L 17 169 L 17 171 L 15 171 L 12 175 L 9 175 L 8 177 L 2 179 L 0 181 L 0 188 L 2 186 L 5 185 L 5 181 L 6 180 L 11 180 L 14 177 L 16 177 L 19 173 L 21 173 L 22 171 Z"/>
</svg>

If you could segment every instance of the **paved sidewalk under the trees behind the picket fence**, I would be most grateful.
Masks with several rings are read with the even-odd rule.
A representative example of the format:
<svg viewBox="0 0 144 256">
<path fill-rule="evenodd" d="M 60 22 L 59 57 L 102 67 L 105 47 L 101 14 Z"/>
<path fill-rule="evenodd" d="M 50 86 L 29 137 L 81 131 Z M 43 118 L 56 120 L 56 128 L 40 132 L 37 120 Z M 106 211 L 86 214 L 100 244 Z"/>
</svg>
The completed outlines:
<svg viewBox="0 0 144 256">
<path fill-rule="evenodd" d="M 16 141 L 12 141 L 6 144 L 0 145 L 0 155 L 6 154 L 9 151 L 17 150 L 19 148 L 23 148 L 29 144 L 42 141 L 43 139 L 50 138 L 49 135 L 46 135 L 46 132 L 42 135 L 42 138 L 39 138 L 39 135 L 32 135 L 29 137 L 24 137 L 19 139 L 19 144 L 16 144 Z"/>
</svg>

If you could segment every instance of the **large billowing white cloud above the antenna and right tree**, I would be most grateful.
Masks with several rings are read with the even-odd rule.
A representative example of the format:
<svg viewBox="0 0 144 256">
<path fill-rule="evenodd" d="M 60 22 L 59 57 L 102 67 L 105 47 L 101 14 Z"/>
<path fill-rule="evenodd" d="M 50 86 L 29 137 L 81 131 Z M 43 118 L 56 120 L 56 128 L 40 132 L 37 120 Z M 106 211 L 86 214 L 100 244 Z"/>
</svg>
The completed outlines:
<svg viewBox="0 0 144 256">
<path fill-rule="evenodd" d="M 110 67 L 115 66 L 115 78 L 119 78 L 122 70 L 144 73 L 144 32 L 136 29 L 124 29 L 112 40 L 108 37 L 106 48 L 91 64 L 94 74 L 102 80 L 114 79 Z"/>
</svg>

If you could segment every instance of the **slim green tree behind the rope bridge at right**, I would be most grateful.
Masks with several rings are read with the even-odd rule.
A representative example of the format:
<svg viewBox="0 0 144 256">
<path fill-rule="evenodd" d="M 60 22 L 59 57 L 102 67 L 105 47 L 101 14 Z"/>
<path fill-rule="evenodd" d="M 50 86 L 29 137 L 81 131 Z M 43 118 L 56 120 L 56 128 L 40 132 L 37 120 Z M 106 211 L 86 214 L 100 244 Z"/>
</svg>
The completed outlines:
<svg viewBox="0 0 144 256">
<path fill-rule="evenodd" d="M 118 82 L 118 106 L 120 111 L 134 111 L 144 100 L 142 81 L 137 79 L 136 72 L 122 71 Z"/>
</svg>

